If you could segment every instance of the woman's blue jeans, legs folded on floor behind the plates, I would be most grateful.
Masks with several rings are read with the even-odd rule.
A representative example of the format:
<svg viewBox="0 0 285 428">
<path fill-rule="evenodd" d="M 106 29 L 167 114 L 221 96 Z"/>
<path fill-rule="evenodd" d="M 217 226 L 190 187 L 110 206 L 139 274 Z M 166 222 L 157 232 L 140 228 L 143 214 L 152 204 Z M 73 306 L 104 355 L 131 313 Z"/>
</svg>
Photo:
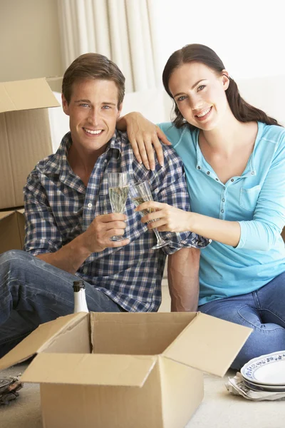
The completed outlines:
<svg viewBox="0 0 285 428">
<path fill-rule="evenodd" d="M 232 363 L 234 370 L 254 357 L 285 350 L 285 272 L 257 291 L 213 300 L 199 311 L 254 329 Z"/>
</svg>

